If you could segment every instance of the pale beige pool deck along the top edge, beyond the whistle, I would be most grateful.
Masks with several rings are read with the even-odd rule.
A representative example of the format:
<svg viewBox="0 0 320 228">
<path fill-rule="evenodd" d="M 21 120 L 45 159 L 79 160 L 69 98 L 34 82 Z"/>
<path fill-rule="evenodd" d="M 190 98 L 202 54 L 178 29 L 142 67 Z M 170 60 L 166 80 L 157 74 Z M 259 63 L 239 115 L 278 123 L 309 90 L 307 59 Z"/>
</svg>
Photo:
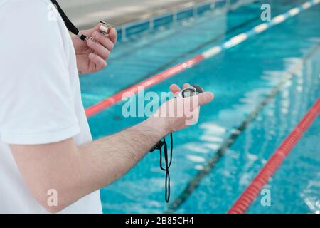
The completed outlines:
<svg viewBox="0 0 320 228">
<path fill-rule="evenodd" d="M 100 0 L 90 4 L 61 1 L 60 4 L 73 23 L 85 29 L 95 26 L 100 20 L 119 26 L 201 2 L 208 0 Z"/>
</svg>

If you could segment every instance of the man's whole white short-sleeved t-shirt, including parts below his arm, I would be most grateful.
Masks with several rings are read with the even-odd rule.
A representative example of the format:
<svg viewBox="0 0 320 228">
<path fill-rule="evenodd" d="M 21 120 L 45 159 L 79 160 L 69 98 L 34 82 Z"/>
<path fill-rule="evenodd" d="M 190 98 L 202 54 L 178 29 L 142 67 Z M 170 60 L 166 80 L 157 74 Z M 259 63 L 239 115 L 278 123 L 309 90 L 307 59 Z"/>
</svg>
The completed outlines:
<svg viewBox="0 0 320 228">
<path fill-rule="evenodd" d="M 49 0 L 0 0 L 1 213 L 46 213 L 28 192 L 8 144 L 92 141 L 73 43 L 52 6 Z M 100 192 L 63 212 L 102 213 Z"/>
</svg>

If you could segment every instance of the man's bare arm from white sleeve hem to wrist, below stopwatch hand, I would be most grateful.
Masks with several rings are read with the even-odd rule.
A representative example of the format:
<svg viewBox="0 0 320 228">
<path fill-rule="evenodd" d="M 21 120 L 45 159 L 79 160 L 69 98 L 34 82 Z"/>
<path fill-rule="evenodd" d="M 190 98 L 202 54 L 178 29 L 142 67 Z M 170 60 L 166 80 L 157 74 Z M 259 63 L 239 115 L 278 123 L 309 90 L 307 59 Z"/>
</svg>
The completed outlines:
<svg viewBox="0 0 320 228">
<path fill-rule="evenodd" d="M 150 118 L 115 135 L 76 147 L 73 140 L 51 145 L 11 145 L 23 180 L 49 212 L 59 212 L 81 197 L 124 175 L 169 133 L 162 118 Z M 24 149 L 21 149 L 24 148 Z M 47 204 L 48 190 L 58 206 Z"/>
</svg>

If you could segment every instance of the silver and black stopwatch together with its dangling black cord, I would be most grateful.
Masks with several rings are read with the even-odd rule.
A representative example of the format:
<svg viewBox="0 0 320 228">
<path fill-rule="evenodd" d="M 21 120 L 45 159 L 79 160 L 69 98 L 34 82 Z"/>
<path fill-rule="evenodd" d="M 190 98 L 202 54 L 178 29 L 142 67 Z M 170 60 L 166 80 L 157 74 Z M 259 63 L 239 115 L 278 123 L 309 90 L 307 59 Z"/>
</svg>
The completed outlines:
<svg viewBox="0 0 320 228">
<path fill-rule="evenodd" d="M 193 95 L 197 95 L 199 93 L 203 93 L 204 90 L 201 88 L 201 86 L 188 86 L 186 88 L 183 88 L 177 95 L 176 98 L 188 98 L 192 97 Z M 174 150 L 174 137 L 173 134 L 170 134 L 171 139 L 171 147 L 170 147 L 170 160 L 168 157 L 168 145 L 166 144 L 166 138 L 163 138 L 160 140 L 152 149 L 150 152 L 154 152 L 154 150 L 159 150 L 160 153 L 160 168 L 161 170 L 164 170 L 166 172 L 166 180 L 165 180 L 165 200 L 168 203 L 170 200 L 170 174 L 169 174 L 169 168 L 171 166 L 172 162 L 172 151 Z M 162 164 L 162 147 L 164 147 L 164 162 L 165 166 Z"/>
</svg>

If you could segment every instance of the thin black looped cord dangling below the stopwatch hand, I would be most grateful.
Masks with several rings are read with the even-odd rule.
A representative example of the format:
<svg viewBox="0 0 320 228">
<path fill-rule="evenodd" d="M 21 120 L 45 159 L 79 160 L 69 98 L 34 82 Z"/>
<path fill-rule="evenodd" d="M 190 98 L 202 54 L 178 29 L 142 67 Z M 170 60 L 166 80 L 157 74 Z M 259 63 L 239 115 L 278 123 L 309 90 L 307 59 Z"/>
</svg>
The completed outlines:
<svg viewBox="0 0 320 228">
<path fill-rule="evenodd" d="M 170 201 L 170 173 L 169 173 L 169 168 L 171 166 L 172 162 L 172 152 L 174 150 L 174 137 L 173 134 L 170 134 L 170 140 L 171 140 L 171 147 L 170 147 L 170 160 L 168 156 L 168 145 L 166 143 L 166 138 L 162 139 L 161 141 L 161 146 L 157 147 L 159 150 L 160 154 L 160 168 L 161 170 L 166 172 L 166 178 L 164 181 L 164 187 L 165 187 L 165 196 L 164 199 L 166 200 L 167 203 Z M 162 147 L 164 147 L 164 165 L 163 165 L 163 159 L 162 159 Z"/>
</svg>

